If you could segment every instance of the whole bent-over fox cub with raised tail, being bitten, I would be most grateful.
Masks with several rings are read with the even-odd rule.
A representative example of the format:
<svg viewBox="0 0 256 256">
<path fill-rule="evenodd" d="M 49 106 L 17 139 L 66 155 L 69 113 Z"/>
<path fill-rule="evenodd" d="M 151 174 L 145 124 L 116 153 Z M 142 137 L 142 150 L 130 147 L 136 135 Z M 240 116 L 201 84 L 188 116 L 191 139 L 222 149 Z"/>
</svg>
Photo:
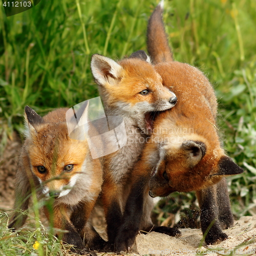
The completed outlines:
<svg viewBox="0 0 256 256">
<path fill-rule="evenodd" d="M 217 100 L 208 79 L 197 68 L 173 61 L 161 18 L 160 5 L 152 14 L 147 45 L 163 84 L 177 95 L 175 108 L 156 117 L 150 141 L 132 173 L 117 251 L 129 250 L 139 231 L 148 194 L 165 197 L 174 191 L 197 191 L 205 242 L 227 239 L 222 228 L 232 226 L 226 175 L 243 169 L 224 153 L 216 127 Z"/>
</svg>

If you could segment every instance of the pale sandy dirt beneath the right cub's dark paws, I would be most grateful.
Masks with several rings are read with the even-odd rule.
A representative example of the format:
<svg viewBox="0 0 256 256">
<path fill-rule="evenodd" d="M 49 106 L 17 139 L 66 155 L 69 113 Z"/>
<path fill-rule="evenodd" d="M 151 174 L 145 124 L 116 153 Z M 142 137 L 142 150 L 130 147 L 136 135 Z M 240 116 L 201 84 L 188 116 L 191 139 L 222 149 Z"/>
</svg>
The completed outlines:
<svg viewBox="0 0 256 256">
<path fill-rule="evenodd" d="M 200 229 L 180 229 L 182 236 L 172 238 L 166 234 L 151 232 L 139 234 L 136 239 L 137 253 L 140 255 L 241 255 L 256 254 L 256 216 L 242 217 L 235 225 L 225 230 L 228 239 L 216 245 L 199 248 L 202 232 Z M 240 246 L 244 244 L 243 246 Z M 237 246 L 240 246 L 237 248 Z"/>
</svg>

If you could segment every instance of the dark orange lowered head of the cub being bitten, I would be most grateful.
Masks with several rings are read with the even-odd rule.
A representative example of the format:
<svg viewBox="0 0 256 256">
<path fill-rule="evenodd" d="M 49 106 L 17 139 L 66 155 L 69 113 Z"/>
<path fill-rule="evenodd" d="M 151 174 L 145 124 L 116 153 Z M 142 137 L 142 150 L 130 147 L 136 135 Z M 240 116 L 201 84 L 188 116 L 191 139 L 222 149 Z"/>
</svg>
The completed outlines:
<svg viewBox="0 0 256 256">
<path fill-rule="evenodd" d="M 210 148 L 203 139 L 183 139 L 176 145 L 160 146 L 160 160 L 150 180 L 151 197 L 197 191 L 219 182 L 223 176 L 243 172 L 221 148 Z"/>
</svg>

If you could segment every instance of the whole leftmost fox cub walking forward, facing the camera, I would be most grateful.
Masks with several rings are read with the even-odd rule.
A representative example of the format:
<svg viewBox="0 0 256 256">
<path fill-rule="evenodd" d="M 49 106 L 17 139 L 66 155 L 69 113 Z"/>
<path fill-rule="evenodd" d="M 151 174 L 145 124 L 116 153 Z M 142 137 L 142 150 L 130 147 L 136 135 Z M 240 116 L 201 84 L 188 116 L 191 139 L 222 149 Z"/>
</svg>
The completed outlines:
<svg viewBox="0 0 256 256">
<path fill-rule="evenodd" d="M 87 108 L 88 104 L 80 110 L 77 120 L 86 118 Z M 85 140 L 69 137 L 67 110 L 57 109 L 42 118 L 26 106 L 26 140 L 17 166 L 14 209 L 28 209 L 35 186 L 38 197 L 54 199 L 53 227 L 69 231 L 63 235 L 63 241 L 75 245 L 78 253 L 87 254 L 90 251 L 81 237 L 97 237 L 87 221 L 101 191 L 102 167 L 98 159 L 92 159 Z M 47 206 L 43 209 L 51 220 Z M 9 228 L 19 228 L 26 219 L 26 214 L 15 212 Z"/>
</svg>

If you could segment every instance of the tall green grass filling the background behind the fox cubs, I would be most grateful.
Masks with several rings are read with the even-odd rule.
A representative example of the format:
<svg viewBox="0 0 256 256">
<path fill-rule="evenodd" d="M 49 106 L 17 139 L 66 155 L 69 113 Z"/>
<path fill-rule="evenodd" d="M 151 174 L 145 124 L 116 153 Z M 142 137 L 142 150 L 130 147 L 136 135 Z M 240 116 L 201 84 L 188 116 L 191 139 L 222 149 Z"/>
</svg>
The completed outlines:
<svg viewBox="0 0 256 256">
<path fill-rule="evenodd" d="M 120 59 L 146 50 L 147 19 L 156 4 L 41 0 L 8 18 L 1 7 L 0 154 L 14 130 L 23 132 L 25 105 L 44 114 L 98 95 L 90 72 L 92 54 Z M 256 213 L 255 10 L 254 0 L 166 0 L 164 12 L 175 59 L 209 77 L 219 99 L 224 148 L 245 169 L 228 178 L 238 217 Z M 194 201 L 193 194 L 182 194 L 164 207 L 193 215 L 189 205 Z M 2 241 L 9 236 L 5 232 Z"/>
</svg>

